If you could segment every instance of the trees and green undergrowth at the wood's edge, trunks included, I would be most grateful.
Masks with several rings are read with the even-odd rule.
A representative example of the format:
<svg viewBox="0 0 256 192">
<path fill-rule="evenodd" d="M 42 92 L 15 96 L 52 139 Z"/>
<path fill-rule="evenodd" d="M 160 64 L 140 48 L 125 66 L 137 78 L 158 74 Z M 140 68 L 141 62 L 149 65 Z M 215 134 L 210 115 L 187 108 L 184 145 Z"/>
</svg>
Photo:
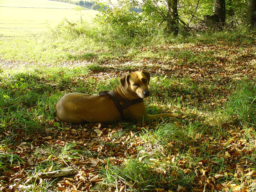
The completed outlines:
<svg viewBox="0 0 256 192">
<path fill-rule="evenodd" d="M 121 7 L 101 9 L 101 19 L 115 15 L 119 24 L 130 26 L 140 23 L 147 26 L 147 31 L 165 31 L 167 34 L 178 34 L 179 29 L 191 30 L 200 28 L 222 28 L 236 26 L 254 27 L 256 23 L 256 0 L 143 0 L 119 1 Z M 139 6 L 142 13 L 128 13 L 131 7 Z M 129 9 L 128 9 L 129 8 Z M 246 14 L 245 14 L 246 13 Z M 120 14 L 120 15 L 119 15 Z M 126 19 L 124 19 L 126 18 Z M 247 19 L 246 19 L 247 18 Z M 114 25 L 114 20 L 104 20 Z M 138 29 L 137 29 L 138 31 Z M 145 30 L 142 30 L 145 32 Z M 133 32 L 132 32 L 133 33 Z"/>
</svg>

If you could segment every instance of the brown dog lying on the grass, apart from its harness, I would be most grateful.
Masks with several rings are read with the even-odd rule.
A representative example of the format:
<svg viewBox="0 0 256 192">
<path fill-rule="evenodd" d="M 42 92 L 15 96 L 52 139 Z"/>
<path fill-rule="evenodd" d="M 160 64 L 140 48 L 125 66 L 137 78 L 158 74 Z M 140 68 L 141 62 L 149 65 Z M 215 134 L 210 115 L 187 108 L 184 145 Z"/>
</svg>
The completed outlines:
<svg viewBox="0 0 256 192">
<path fill-rule="evenodd" d="M 150 74 L 146 71 L 136 71 L 121 78 L 121 85 L 113 89 L 117 97 L 126 100 L 145 98 L 149 96 L 148 84 Z M 120 102 L 121 104 L 123 102 Z M 57 116 L 67 123 L 109 123 L 121 119 L 113 100 L 107 95 L 90 96 L 81 93 L 64 95 L 56 105 Z M 178 114 L 148 115 L 143 102 L 133 104 L 123 111 L 125 119 L 160 119 L 178 117 Z"/>
</svg>

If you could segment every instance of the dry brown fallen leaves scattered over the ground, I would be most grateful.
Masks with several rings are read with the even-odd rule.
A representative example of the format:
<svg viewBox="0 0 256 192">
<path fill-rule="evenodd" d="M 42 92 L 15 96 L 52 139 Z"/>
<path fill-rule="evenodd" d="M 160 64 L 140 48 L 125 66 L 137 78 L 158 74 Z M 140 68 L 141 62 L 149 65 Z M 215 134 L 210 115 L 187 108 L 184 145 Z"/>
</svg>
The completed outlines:
<svg viewBox="0 0 256 192">
<path fill-rule="evenodd" d="M 239 47 L 243 47 L 243 49 L 238 49 L 238 45 L 204 44 L 197 46 L 184 44 L 179 48 L 172 45 L 151 47 L 150 49 L 153 52 L 183 50 L 188 51 L 189 54 L 199 56 L 208 51 L 209 54 L 212 54 L 213 59 L 200 60 L 200 58 L 197 58 L 200 60 L 197 62 L 196 59 L 189 61 L 185 59 L 186 57 L 176 58 L 174 56 L 168 59 L 143 58 L 131 61 L 131 58 L 122 57 L 104 61 L 99 65 L 100 69 L 91 70 L 90 73 L 84 74 L 83 78 L 99 80 L 110 77 L 119 78 L 128 71 L 133 72 L 143 69 L 149 71 L 153 76 L 161 75 L 164 77 L 166 75 L 173 78 L 189 78 L 191 82 L 196 86 L 201 86 L 203 90 L 200 93 L 194 93 L 195 98 L 191 100 L 189 105 L 198 102 L 205 104 L 207 108 L 214 108 L 214 106 L 221 106 L 223 102 L 227 101 L 233 87 L 230 87 L 230 89 L 223 89 L 223 87 L 227 87 L 226 85 L 232 80 L 240 80 L 245 76 L 250 80 L 255 80 L 255 47 L 246 44 L 239 45 Z M 146 50 L 146 48 L 141 49 L 141 51 Z M 223 56 L 220 54 L 223 51 L 228 51 L 229 54 Z M 88 65 L 90 62 L 63 61 L 61 65 L 80 66 Z M 3 64 L 2 67 L 8 68 L 15 68 L 17 63 L 22 64 L 22 62 L 2 60 L 1 63 Z M 132 69 L 126 69 L 127 64 Z M 24 65 L 27 66 L 28 63 Z M 73 82 L 76 81 L 76 78 L 78 77 L 73 77 Z M 175 81 L 174 85 L 182 86 L 179 83 Z M 212 86 L 210 93 L 206 91 L 208 86 Z M 173 97 L 180 96 L 181 102 L 190 98 L 189 94 L 183 93 L 178 88 L 177 92 Z M 183 119 L 186 119 L 186 117 L 183 117 Z M 190 119 L 190 121 L 192 120 L 201 122 L 202 119 L 200 119 L 200 115 L 195 114 L 193 119 Z M 26 190 L 33 188 L 33 184 L 42 183 L 44 179 L 53 180 L 55 177 L 57 179 L 53 191 L 92 191 L 96 185 L 100 185 L 102 191 L 126 191 L 131 186 L 130 184 L 119 182 L 116 186 L 111 185 L 99 174 L 99 170 L 102 167 L 108 170 L 108 163 L 113 166 L 123 166 L 123 163 L 129 159 L 137 158 L 138 161 L 143 161 L 144 156 L 139 151 L 142 146 L 149 154 L 155 152 L 155 149 L 146 140 L 139 137 L 139 134 L 143 130 L 155 130 L 158 122 L 150 124 L 129 122 L 130 127 L 132 127 L 130 129 L 125 128 L 126 123 L 124 122 L 112 125 L 100 123 L 70 125 L 57 122 L 57 119 L 54 119 L 46 123 L 50 128 L 40 129 L 33 134 L 25 133 L 21 129 L 1 131 L 1 140 L 16 134 L 15 144 L 7 145 L 8 150 L 5 147 L 0 148 L 1 164 L 3 165 L 0 169 L 1 191 Z M 184 125 L 182 121 L 174 123 L 180 127 Z M 245 130 L 238 125 L 224 123 L 222 127 L 225 128 L 230 138 L 223 134 L 220 137 L 221 139 L 217 140 L 213 139 L 212 135 L 208 133 L 195 135 L 186 144 L 177 144 L 173 140 L 165 147 L 162 146 L 162 151 L 168 149 L 169 153 L 163 154 L 164 158 L 149 159 L 159 168 L 152 168 L 152 174 L 159 174 L 163 178 L 172 177 L 173 179 L 159 181 L 159 187 L 156 186 L 152 191 L 247 192 L 255 189 L 255 143 L 249 144 L 247 140 L 243 139 L 243 136 L 248 133 L 245 133 Z M 205 150 L 210 155 L 202 157 L 200 150 L 205 143 L 207 143 Z M 68 144 L 70 148 L 65 150 L 64 148 Z M 180 151 L 185 150 L 185 148 L 191 151 L 194 157 L 198 157 L 199 160 L 191 163 L 189 159 L 181 156 Z M 12 160 L 12 155 L 18 161 Z M 19 163 L 15 164 L 16 162 Z M 49 162 L 51 166 L 48 166 Z M 165 166 L 160 166 L 163 164 Z M 173 168 L 174 164 L 176 170 Z M 42 169 L 35 174 L 34 170 L 39 165 Z M 161 169 L 161 167 L 164 169 Z M 172 168 L 173 171 L 169 171 Z M 55 176 L 47 174 L 54 171 L 57 171 L 54 173 Z M 178 174 L 178 171 L 183 172 L 183 174 Z M 193 178 L 190 186 L 176 184 L 176 181 L 182 179 L 181 176 L 184 175 Z M 133 186 L 136 190 L 135 183 L 133 183 Z"/>
</svg>

